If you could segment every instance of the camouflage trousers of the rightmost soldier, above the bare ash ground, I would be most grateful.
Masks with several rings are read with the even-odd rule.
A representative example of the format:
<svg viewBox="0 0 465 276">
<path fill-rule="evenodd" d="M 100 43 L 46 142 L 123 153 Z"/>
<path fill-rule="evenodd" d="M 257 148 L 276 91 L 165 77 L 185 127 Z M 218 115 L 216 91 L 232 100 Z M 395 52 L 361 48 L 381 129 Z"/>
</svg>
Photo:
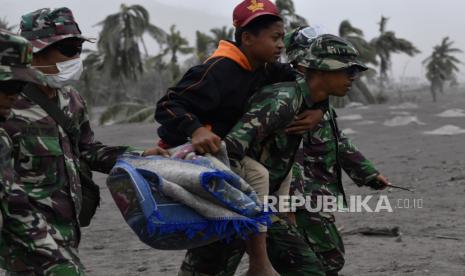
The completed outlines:
<svg viewBox="0 0 465 276">
<path fill-rule="evenodd" d="M 344 244 L 330 213 L 296 212 L 297 229 L 313 249 L 326 275 L 338 275 L 344 266 Z"/>
</svg>

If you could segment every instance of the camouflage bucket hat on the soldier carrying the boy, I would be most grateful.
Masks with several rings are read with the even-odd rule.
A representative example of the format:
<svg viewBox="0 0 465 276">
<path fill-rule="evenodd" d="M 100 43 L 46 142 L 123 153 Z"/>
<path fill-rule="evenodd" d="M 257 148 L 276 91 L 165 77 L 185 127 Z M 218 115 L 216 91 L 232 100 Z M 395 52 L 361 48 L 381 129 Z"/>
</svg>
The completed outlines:
<svg viewBox="0 0 465 276">
<path fill-rule="evenodd" d="M 331 34 L 321 34 L 311 27 L 300 28 L 285 38 L 289 62 L 306 68 L 335 71 L 357 67 L 365 71 L 368 67 L 358 60 L 359 53 L 345 39 Z"/>
</svg>

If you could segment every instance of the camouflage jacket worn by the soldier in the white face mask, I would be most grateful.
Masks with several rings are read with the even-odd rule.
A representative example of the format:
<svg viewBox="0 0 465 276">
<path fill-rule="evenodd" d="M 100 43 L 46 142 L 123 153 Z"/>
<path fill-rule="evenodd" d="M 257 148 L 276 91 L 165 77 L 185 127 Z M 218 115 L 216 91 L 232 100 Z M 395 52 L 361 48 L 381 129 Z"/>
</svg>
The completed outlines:
<svg viewBox="0 0 465 276">
<path fill-rule="evenodd" d="M 94 171 L 108 173 L 128 147 L 109 147 L 95 141 L 79 93 L 72 87 L 58 89 L 57 103 L 79 128 L 80 158 Z M 15 171 L 34 205 L 53 228 L 54 239 L 77 247 L 81 210 L 79 156 L 65 131 L 37 104 L 21 95 L 12 110 L 14 118 L 2 126 L 13 140 Z"/>
</svg>

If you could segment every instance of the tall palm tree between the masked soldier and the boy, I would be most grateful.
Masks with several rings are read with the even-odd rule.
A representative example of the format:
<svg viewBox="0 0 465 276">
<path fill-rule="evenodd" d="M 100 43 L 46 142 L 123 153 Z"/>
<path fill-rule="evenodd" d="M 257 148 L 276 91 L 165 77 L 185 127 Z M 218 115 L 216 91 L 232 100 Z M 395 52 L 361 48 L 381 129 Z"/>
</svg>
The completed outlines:
<svg viewBox="0 0 465 276">
<path fill-rule="evenodd" d="M 97 44 L 98 51 L 90 53 L 85 60 L 84 65 L 91 73 L 84 75 L 84 81 L 92 82 L 93 76 L 98 76 L 97 72 L 103 71 L 105 73 L 103 77 L 108 76 L 111 80 L 117 80 L 110 81 L 108 87 L 97 82 L 99 88 L 110 92 L 106 93 L 106 103 L 111 103 L 108 101 L 110 94 L 113 96 L 113 102 L 117 104 L 131 107 L 137 105 L 135 103 L 137 100 L 127 93 L 131 90 L 126 89 L 126 84 L 128 81 L 138 80 L 144 72 L 145 60 L 148 58 L 144 36 L 148 35 L 161 45 L 166 41 L 166 33 L 150 22 L 148 11 L 141 5 L 121 4 L 117 13 L 110 14 L 97 25 L 102 26 Z M 102 115 L 101 121 L 119 122 L 118 119 L 108 118 L 112 116 L 120 118 L 121 114 L 127 119 L 134 112 L 142 109 L 140 105 L 137 106 L 137 109 L 110 106 Z M 131 114 L 124 113 L 125 111 L 130 111 Z"/>
</svg>

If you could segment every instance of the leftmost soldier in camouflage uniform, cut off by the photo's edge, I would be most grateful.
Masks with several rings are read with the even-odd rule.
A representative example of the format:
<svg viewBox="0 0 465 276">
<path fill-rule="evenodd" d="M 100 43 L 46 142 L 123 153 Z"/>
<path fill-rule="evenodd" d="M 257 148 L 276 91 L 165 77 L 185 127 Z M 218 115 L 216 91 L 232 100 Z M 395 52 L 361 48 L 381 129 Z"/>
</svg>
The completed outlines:
<svg viewBox="0 0 465 276">
<path fill-rule="evenodd" d="M 23 37 L 0 30 L 1 122 L 11 119 L 13 103 L 27 82 L 45 85 L 43 75 L 30 67 L 31 62 L 32 45 Z M 13 156 L 10 136 L 0 127 L 0 210 L 5 222 L 0 242 L 0 266 L 8 271 L 14 270 L 12 263 L 6 260 L 18 253 L 13 248 L 22 248 L 23 252 L 29 251 L 28 258 L 18 259 L 14 264 L 16 267 L 30 265 L 45 270 L 60 264 L 65 268 L 66 258 L 58 250 L 45 217 L 37 211 L 24 187 L 15 179 Z"/>
</svg>

